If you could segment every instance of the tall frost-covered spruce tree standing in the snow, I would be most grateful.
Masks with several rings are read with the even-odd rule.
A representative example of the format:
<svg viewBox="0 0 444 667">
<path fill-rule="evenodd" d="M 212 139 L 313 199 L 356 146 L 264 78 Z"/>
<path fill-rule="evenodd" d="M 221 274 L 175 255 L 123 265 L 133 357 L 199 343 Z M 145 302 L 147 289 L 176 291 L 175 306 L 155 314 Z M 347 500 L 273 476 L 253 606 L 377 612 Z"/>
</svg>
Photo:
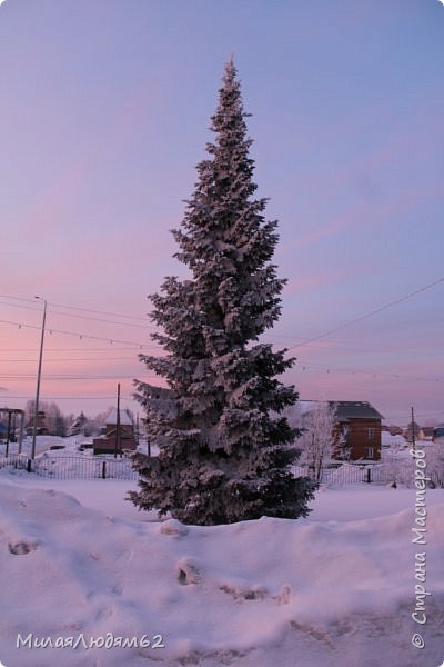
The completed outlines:
<svg viewBox="0 0 444 667">
<path fill-rule="evenodd" d="M 276 376 L 294 359 L 258 344 L 279 318 L 285 280 L 270 263 L 276 222 L 263 217 L 265 199 L 252 199 L 246 116 L 230 61 L 212 117 L 215 142 L 173 231 L 191 279 L 169 277 L 150 297 L 164 331 L 152 338 L 167 355 L 140 357 L 168 388 L 135 381 L 160 452 L 134 456 L 140 490 L 129 497 L 186 524 L 306 516 L 315 488 L 290 470 L 299 451 L 281 412 L 297 395 Z"/>
</svg>

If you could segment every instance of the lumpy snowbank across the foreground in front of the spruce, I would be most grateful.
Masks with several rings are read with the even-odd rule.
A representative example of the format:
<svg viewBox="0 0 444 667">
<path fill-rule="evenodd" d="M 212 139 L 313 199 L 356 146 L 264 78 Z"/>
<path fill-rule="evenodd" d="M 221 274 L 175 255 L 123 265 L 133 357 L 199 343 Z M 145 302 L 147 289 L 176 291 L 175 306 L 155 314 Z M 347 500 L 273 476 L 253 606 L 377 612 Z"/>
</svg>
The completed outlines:
<svg viewBox="0 0 444 667">
<path fill-rule="evenodd" d="M 97 482 L 97 494 L 107 488 L 115 485 Z M 8 667 L 406 667 L 420 657 L 434 667 L 444 658 L 442 504 L 430 507 L 430 546 L 420 547 L 413 505 L 347 522 L 262 518 L 202 528 L 107 516 L 2 475 L 0 519 Z M 433 594 L 426 626 L 411 617 L 418 550 L 427 551 Z M 422 651 L 411 644 L 416 631 L 426 638 Z M 70 648 L 79 637 L 98 645 Z M 113 648 L 100 647 L 107 637 Z M 120 637 L 139 646 L 118 647 Z M 64 647 L 38 648 L 43 638 Z M 147 638 L 164 646 L 148 647 Z"/>
</svg>

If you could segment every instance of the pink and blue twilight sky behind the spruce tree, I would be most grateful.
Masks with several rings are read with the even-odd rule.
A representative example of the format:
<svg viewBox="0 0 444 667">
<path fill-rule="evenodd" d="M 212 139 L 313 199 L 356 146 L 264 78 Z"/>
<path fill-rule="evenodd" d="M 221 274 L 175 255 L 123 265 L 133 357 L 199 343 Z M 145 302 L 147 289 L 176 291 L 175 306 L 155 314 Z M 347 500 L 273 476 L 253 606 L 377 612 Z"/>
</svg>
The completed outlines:
<svg viewBox="0 0 444 667">
<path fill-rule="evenodd" d="M 132 400 L 147 295 L 234 53 L 289 279 L 268 339 L 303 399 L 444 421 L 444 7 L 437 0 L 6 0 L 0 7 L 0 405 Z M 124 316 L 124 317 L 123 317 Z M 293 347 L 297 346 L 297 347 Z"/>
</svg>

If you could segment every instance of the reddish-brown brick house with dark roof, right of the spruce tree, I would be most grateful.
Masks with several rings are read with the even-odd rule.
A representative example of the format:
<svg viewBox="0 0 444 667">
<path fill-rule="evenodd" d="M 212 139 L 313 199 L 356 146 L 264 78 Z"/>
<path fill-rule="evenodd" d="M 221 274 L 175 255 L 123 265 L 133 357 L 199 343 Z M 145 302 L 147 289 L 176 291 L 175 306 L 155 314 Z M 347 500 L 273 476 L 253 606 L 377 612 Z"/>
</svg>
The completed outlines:
<svg viewBox="0 0 444 667">
<path fill-rule="evenodd" d="M 350 460 L 381 459 L 381 420 L 383 416 L 366 401 L 329 401 L 336 408 L 337 440 L 343 435 L 343 447 Z"/>
</svg>

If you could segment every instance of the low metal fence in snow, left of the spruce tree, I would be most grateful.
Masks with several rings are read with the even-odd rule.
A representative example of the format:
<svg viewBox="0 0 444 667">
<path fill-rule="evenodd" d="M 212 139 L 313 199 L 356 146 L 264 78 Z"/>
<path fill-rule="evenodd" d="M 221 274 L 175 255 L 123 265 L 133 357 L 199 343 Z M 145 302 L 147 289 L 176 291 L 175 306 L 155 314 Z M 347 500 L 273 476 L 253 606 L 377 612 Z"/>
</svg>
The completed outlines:
<svg viewBox="0 0 444 667">
<path fill-rule="evenodd" d="M 11 467 L 51 479 L 138 479 L 127 457 L 41 456 L 31 460 L 23 455 L 0 457 L 0 468 Z"/>
</svg>

